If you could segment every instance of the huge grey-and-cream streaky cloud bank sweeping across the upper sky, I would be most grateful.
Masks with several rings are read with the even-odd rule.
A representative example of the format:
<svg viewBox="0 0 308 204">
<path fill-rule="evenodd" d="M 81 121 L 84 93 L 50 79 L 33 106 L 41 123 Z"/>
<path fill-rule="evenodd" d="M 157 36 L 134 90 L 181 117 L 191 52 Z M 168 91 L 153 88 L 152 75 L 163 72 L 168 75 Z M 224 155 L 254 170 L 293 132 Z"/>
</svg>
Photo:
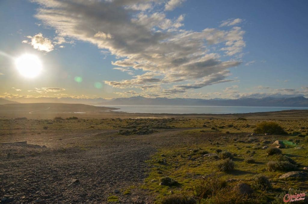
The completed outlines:
<svg viewBox="0 0 308 204">
<path fill-rule="evenodd" d="M 241 60 L 233 60 L 245 47 L 245 31 L 241 27 L 181 29 L 184 15 L 168 18 L 164 11 L 158 12 L 160 9 L 149 9 L 150 4 L 161 6 L 164 0 L 146 3 L 141 0 L 34 1 L 41 5 L 35 17 L 55 28 L 59 36 L 90 42 L 103 52 L 115 55 L 118 60 L 111 64 L 120 71 L 132 73 L 128 70 L 135 69 L 146 73 L 128 80 L 105 81 L 115 88 L 157 83 L 165 84 L 166 90 L 201 88 L 232 81 L 227 79 L 228 68 L 241 63 Z M 172 10 L 182 2 L 170 0 L 165 10 Z M 226 25 L 241 22 L 229 21 Z M 221 55 L 232 58 L 221 60 Z M 156 73 L 156 76 L 148 73 Z M 148 94 L 159 94 L 159 91 L 163 90 Z"/>
</svg>

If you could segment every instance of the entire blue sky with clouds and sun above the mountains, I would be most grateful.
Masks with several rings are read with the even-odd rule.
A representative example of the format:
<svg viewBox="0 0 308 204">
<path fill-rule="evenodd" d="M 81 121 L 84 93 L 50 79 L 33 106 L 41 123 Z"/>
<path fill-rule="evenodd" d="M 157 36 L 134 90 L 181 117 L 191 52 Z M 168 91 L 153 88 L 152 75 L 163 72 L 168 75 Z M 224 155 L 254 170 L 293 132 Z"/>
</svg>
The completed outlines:
<svg viewBox="0 0 308 204">
<path fill-rule="evenodd" d="M 1 0 L 0 97 L 308 97 L 307 10 L 306 0 Z"/>
</svg>

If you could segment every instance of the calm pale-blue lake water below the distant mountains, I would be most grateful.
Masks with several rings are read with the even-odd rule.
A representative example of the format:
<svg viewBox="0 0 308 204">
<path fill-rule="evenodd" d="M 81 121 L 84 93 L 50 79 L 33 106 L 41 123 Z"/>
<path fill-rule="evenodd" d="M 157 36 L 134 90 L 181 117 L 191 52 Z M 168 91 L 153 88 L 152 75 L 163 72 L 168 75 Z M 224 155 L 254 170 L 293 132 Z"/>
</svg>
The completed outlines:
<svg viewBox="0 0 308 204">
<path fill-rule="evenodd" d="M 115 111 L 131 112 L 131 113 L 175 113 L 175 114 L 188 114 L 188 113 L 249 113 L 249 112 L 269 112 L 269 111 L 282 111 L 282 110 L 305 110 L 307 107 L 239 107 L 239 106 L 142 106 L 142 105 L 99 105 L 105 107 L 120 108 Z"/>
</svg>

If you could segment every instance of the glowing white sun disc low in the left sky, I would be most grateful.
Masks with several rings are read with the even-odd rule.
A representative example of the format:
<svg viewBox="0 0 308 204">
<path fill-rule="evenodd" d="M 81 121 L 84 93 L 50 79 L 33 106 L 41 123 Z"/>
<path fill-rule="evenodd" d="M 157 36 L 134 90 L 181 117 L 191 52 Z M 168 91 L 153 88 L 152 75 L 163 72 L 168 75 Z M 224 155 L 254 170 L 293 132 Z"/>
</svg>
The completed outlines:
<svg viewBox="0 0 308 204">
<path fill-rule="evenodd" d="M 24 54 L 15 61 L 19 73 L 28 78 L 34 78 L 42 71 L 42 63 L 36 55 Z"/>
</svg>

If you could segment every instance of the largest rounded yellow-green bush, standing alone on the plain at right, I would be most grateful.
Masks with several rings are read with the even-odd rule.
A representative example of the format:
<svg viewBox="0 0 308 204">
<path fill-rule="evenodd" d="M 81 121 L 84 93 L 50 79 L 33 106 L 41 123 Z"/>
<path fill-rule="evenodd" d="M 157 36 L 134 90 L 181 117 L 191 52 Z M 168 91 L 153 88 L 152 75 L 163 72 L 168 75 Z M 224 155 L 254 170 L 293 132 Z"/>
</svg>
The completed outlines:
<svg viewBox="0 0 308 204">
<path fill-rule="evenodd" d="M 267 122 L 267 121 L 256 124 L 254 133 L 257 133 L 257 134 L 269 133 L 269 134 L 276 134 L 276 135 L 287 134 L 286 131 L 284 131 L 284 129 L 278 123 Z"/>
</svg>

